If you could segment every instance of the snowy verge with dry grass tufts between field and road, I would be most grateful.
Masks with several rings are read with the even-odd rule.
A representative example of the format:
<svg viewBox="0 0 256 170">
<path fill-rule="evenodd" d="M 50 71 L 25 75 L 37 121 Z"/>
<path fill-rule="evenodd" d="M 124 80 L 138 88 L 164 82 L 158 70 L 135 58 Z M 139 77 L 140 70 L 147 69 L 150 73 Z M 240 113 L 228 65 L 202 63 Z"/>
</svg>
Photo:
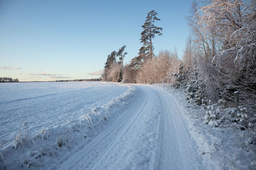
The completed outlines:
<svg viewBox="0 0 256 170">
<path fill-rule="evenodd" d="M 0 149 L 0 169 L 54 168 L 51 167 L 53 164 L 82 148 L 118 116 L 134 92 L 133 87 L 124 86 L 128 90 L 107 104 L 99 103 L 91 111 L 82 113 L 81 117 L 66 120 L 65 124 L 42 127 L 35 136 L 29 136 L 28 122 L 24 122 L 13 144 Z"/>
</svg>

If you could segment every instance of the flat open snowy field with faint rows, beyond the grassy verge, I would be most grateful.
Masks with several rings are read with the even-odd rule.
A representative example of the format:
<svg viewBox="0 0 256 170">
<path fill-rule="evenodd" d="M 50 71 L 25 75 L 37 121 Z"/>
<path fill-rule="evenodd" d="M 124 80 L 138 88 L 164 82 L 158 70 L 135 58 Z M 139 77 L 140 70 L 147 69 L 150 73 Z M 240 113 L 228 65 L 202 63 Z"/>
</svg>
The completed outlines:
<svg viewBox="0 0 256 170">
<path fill-rule="evenodd" d="M 1 83 L 1 145 L 12 143 L 24 122 L 27 122 L 29 136 L 35 136 L 42 127 L 56 127 L 76 120 L 128 89 L 97 82 Z"/>
</svg>

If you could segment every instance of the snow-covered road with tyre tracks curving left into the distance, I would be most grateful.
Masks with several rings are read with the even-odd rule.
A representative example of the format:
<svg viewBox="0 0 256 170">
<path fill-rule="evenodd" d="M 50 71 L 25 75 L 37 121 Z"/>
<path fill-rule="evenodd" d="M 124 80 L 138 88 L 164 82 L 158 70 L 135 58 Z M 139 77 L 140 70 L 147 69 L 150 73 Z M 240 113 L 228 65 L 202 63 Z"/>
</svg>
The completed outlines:
<svg viewBox="0 0 256 170">
<path fill-rule="evenodd" d="M 132 101 L 87 145 L 52 169 L 204 169 L 182 107 L 161 88 L 134 85 Z"/>
</svg>

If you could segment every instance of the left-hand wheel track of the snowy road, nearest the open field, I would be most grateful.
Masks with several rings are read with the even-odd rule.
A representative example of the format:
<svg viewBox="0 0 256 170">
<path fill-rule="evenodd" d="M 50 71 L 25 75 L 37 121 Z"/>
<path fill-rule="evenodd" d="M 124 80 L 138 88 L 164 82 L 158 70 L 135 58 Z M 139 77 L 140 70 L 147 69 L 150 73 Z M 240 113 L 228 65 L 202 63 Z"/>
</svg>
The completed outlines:
<svg viewBox="0 0 256 170">
<path fill-rule="evenodd" d="M 124 135 L 124 132 L 131 126 L 132 120 L 136 118 L 137 115 L 133 113 L 139 113 L 147 101 L 147 94 L 141 94 L 139 92 L 136 96 L 145 96 L 145 101 L 136 101 L 132 104 L 131 107 L 114 122 L 111 122 L 111 125 L 102 131 L 97 137 L 95 137 L 88 145 L 79 150 L 79 152 L 74 153 L 71 157 L 65 158 L 59 169 L 93 169 L 95 168 L 100 160 L 106 157 L 106 154 L 113 148 L 115 141 L 118 138 L 121 138 Z M 138 99 L 138 97 L 136 97 Z M 100 155 L 99 155 L 100 154 Z M 86 158 L 86 159 L 84 159 Z M 67 160 L 68 159 L 68 160 Z"/>
</svg>

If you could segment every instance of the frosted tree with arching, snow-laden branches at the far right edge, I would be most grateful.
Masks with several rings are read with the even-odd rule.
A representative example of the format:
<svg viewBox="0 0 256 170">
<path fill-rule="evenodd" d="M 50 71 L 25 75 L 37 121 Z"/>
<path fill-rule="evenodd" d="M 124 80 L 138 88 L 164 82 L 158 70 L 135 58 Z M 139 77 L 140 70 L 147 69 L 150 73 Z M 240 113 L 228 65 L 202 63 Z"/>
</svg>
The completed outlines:
<svg viewBox="0 0 256 170">
<path fill-rule="evenodd" d="M 219 50 L 212 55 L 211 64 L 220 77 L 219 89 L 228 92 L 234 101 L 239 90 L 243 101 L 256 99 L 256 1 L 205 1 L 198 13 L 198 24 L 211 32 Z M 231 94 L 231 98 L 228 97 Z"/>
</svg>

